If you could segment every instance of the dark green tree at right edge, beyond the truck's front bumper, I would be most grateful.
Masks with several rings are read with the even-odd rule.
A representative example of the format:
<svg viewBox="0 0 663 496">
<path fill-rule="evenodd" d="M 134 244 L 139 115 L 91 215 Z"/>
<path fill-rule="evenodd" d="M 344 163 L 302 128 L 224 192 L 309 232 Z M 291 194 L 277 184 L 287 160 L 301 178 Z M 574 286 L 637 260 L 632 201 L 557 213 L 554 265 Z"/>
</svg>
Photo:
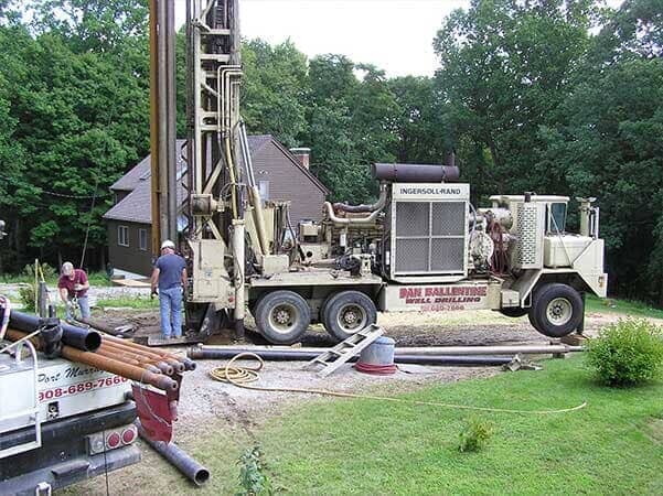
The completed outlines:
<svg viewBox="0 0 663 496">
<path fill-rule="evenodd" d="M 573 196 L 598 196 L 612 291 L 663 304 L 663 62 L 661 12 L 649 0 L 609 12 L 586 68 L 544 127 L 542 166 Z"/>
</svg>

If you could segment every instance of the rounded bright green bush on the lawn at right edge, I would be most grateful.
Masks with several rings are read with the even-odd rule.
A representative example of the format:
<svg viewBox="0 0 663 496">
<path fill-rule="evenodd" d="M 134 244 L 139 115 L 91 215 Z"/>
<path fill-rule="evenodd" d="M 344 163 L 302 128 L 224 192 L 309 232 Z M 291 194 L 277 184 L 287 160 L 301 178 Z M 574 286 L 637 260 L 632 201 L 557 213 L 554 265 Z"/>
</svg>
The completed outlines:
<svg viewBox="0 0 663 496">
<path fill-rule="evenodd" d="M 587 364 L 608 386 L 646 382 L 663 366 L 663 332 L 645 320 L 628 319 L 608 325 L 588 347 Z"/>
</svg>

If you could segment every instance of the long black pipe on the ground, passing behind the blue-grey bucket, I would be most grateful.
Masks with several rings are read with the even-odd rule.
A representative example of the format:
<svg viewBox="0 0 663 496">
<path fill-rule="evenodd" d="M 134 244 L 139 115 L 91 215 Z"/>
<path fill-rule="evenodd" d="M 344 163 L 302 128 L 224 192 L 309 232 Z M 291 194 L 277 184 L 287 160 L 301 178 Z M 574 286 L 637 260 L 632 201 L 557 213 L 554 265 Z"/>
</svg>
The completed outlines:
<svg viewBox="0 0 663 496">
<path fill-rule="evenodd" d="M 254 353 L 265 360 L 274 362 L 308 362 L 321 355 L 318 352 L 300 351 L 253 351 L 250 348 L 237 349 L 204 349 L 199 347 L 189 348 L 186 355 L 195 359 L 231 359 L 240 353 Z M 356 362 L 354 356 L 350 362 Z M 450 356 L 450 355 L 396 355 L 394 362 L 397 364 L 419 365 L 505 365 L 512 360 L 509 356 Z"/>
</svg>

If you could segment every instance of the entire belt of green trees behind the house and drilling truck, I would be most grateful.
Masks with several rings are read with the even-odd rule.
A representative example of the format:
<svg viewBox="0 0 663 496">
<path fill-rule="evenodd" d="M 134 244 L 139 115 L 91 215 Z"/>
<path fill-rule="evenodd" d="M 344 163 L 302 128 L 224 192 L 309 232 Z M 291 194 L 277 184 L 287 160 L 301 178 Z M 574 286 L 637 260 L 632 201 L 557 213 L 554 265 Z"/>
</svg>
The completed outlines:
<svg viewBox="0 0 663 496">
<path fill-rule="evenodd" d="M 104 261 L 108 187 L 149 149 L 147 6 L 0 2 L 0 270 L 78 257 L 88 225 L 87 260 Z M 660 12 L 661 0 L 474 0 L 441 24 L 434 78 L 247 40 L 242 114 L 253 133 L 310 147 L 333 201 L 373 200 L 373 162 L 440 163 L 452 149 L 475 203 L 597 196 L 611 290 L 663 305 Z M 183 138 L 183 31 L 177 44 Z"/>
</svg>

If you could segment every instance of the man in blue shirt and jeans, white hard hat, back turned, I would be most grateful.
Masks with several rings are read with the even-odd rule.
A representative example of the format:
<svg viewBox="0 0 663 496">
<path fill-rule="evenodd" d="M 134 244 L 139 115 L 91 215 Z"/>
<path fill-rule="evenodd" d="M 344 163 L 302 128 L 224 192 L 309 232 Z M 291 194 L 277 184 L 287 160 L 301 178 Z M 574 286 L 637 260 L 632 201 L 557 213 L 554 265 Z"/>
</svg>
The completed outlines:
<svg viewBox="0 0 663 496">
<path fill-rule="evenodd" d="M 186 287 L 186 262 L 175 254 L 175 244 L 165 240 L 152 271 L 152 294 L 159 294 L 161 334 L 182 337 L 182 288 Z M 159 291 L 157 291 L 159 288 Z"/>
</svg>

